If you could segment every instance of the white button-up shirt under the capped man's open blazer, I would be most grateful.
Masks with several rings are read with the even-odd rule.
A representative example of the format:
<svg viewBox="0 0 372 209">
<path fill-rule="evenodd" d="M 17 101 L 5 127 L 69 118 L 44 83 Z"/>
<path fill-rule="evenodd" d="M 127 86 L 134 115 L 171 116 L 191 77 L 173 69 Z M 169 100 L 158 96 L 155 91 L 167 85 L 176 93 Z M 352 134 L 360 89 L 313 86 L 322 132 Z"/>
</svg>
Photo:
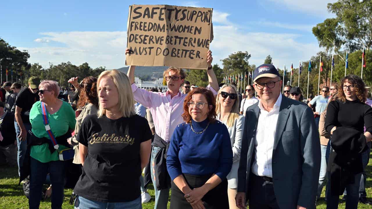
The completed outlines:
<svg viewBox="0 0 372 209">
<path fill-rule="evenodd" d="M 254 142 L 254 151 L 256 156 L 252 165 L 252 173 L 257 176 L 273 177 L 272 157 L 276 123 L 278 122 L 280 104 L 282 103 L 282 94 L 274 104 L 274 108 L 267 112 L 259 102 L 260 115 L 258 118 L 256 140 Z"/>
</svg>

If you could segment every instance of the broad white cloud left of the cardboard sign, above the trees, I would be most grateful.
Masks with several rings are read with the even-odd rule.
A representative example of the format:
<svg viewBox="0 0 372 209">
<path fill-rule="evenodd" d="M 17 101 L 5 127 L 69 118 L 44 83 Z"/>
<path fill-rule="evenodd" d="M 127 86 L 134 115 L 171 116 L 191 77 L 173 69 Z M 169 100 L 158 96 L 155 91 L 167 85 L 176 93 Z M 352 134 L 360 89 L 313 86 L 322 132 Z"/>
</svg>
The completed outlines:
<svg viewBox="0 0 372 209">
<path fill-rule="evenodd" d="M 48 67 L 49 62 L 60 64 L 70 61 L 75 65 L 88 62 L 91 67 L 106 66 L 108 69 L 124 66 L 126 32 L 46 32 L 41 33 L 48 39 L 63 47 L 42 46 L 22 48 L 30 53 L 29 62 L 38 62 L 43 67 Z M 40 42 L 40 41 L 39 41 Z"/>
</svg>

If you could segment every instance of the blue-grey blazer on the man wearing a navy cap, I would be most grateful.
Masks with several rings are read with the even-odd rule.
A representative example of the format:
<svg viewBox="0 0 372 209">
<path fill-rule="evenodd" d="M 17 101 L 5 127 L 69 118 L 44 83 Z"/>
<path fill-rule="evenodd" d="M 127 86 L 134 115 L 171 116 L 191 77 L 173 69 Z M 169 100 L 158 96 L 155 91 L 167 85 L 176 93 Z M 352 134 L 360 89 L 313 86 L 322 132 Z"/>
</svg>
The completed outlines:
<svg viewBox="0 0 372 209">
<path fill-rule="evenodd" d="M 248 107 L 238 168 L 238 192 L 250 189 L 251 167 L 255 158 L 254 143 L 260 109 Z M 312 110 L 304 103 L 282 97 L 273 146 L 272 172 L 274 192 L 282 209 L 302 206 L 315 209 L 320 171 L 320 141 Z"/>
</svg>

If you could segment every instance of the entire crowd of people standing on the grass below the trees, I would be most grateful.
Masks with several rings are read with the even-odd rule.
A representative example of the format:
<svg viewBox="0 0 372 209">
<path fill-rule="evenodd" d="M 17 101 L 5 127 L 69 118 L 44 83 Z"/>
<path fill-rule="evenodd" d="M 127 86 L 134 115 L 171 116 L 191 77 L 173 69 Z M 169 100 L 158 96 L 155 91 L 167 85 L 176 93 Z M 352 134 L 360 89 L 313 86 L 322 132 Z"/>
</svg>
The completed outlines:
<svg viewBox="0 0 372 209">
<path fill-rule="evenodd" d="M 305 101 L 299 87 L 282 90 L 271 64 L 240 93 L 218 83 L 211 51 L 206 60 L 208 86 L 170 67 L 166 92 L 138 88 L 135 66 L 63 90 L 38 77 L 4 83 L 0 164 L 17 162 L 31 209 L 49 196 L 60 209 L 65 187 L 74 208 L 140 209 L 149 183 L 154 209 L 167 208 L 170 190 L 171 209 L 313 209 L 324 186 L 327 209 L 340 195 L 347 209 L 367 203 L 372 101 L 361 78 Z"/>
</svg>

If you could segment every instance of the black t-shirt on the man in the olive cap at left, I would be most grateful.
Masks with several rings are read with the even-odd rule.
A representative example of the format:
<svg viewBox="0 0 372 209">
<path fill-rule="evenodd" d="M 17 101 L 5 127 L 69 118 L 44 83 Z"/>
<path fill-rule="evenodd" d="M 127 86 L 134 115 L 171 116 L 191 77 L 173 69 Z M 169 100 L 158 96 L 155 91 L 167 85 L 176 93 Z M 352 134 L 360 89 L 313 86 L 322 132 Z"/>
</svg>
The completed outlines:
<svg viewBox="0 0 372 209">
<path fill-rule="evenodd" d="M 19 91 L 16 106 L 22 108 L 21 118 L 23 123 L 30 123 L 30 110 L 32 105 L 39 101 L 39 91 L 33 94 L 28 88 Z"/>
</svg>

